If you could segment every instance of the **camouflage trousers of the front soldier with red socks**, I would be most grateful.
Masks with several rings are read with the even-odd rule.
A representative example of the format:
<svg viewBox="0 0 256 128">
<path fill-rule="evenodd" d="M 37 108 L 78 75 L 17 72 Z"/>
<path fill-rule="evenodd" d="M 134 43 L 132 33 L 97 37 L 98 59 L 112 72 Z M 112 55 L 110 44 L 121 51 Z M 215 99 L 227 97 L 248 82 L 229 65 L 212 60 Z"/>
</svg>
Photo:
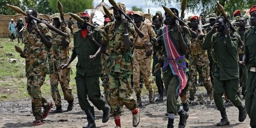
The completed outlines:
<svg viewBox="0 0 256 128">
<path fill-rule="evenodd" d="M 115 72 L 109 74 L 109 103 L 111 113 L 119 115 L 122 113 L 122 106 L 125 105 L 129 110 L 137 108 L 137 103 L 132 97 L 131 75 Z"/>
</svg>

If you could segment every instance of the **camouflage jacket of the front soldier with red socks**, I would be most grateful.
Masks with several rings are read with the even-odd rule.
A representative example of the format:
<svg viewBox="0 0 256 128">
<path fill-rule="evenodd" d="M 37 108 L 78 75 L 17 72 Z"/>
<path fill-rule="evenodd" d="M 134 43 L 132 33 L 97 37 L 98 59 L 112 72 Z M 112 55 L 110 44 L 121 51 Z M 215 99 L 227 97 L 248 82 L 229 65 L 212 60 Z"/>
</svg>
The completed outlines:
<svg viewBox="0 0 256 128">
<path fill-rule="evenodd" d="M 130 23 L 128 28 L 129 38 L 133 45 L 134 26 Z M 106 24 L 102 44 L 106 45 L 107 62 L 105 66 L 111 69 L 111 72 L 132 74 L 132 54 L 130 49 L 124 48 L 124 25 L 115 27 L 115 22 Z"/>
</svg>

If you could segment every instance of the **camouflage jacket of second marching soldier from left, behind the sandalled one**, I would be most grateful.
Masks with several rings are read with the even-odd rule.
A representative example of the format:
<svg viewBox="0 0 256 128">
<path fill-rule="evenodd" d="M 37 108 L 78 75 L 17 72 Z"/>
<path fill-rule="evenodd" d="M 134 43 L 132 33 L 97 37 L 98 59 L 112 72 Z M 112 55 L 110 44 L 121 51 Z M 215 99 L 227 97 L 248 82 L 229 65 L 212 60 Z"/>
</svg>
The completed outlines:
<svg viewBox="0 0 256 128">
<path fill-rule="evenodd" d="M 68 33 L 66 42 L 69 45 L 71 42 L 71 39 L 70 39 L 71 31 L 66 26 L 64 32 Z M 53 61 L 54 61 L 55 67 L 57 69 L 60 69 L 60 65 L 66 64 L 69 60 L 69 49 L 68 49 L 69 46 L 67 46 L 66 48 L 62 46 L 62 39 L 63 39 L 62 35 L 56 33 L 55 31 L 51 31 L 51 34 L 52 34 L 52 51 L 50 52 L 53 53 Z M 71 68 L 71 65 L 69 65 L 67 68 Z"/>
</svg>

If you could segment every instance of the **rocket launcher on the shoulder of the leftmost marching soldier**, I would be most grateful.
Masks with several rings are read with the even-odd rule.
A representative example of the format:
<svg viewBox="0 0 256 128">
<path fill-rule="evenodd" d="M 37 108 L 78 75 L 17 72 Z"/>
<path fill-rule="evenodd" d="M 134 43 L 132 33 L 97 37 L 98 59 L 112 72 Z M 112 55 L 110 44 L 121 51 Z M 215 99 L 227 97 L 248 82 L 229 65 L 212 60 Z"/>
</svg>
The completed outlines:
<svg viewBox="0 0 256 128">
<path fill-rule="evenodd" d="M 9 5 L 7 4 L 7 6 L 9 6 L 11 9 L 13 9 L 13 11 L 15 11 L 16 13 L 21 13 L 23 15 L 28 16 L 29 18 L 39 22 L 39 23 L 44 23 L 51 31 L 55 31 L 56 33 L 59 33 L 60 35 L 63 35 L 64 37 L 68 37 L 67 33 L 63 33 L 62 31 L 60 31 L 59 29 L 55 28 L 54 26 L 52 26 L 51 24 L 48 24 L 47 22 L 40 20 L 38 18 L 33 17 L 33 15 L 31 15 L 30 13 L 26 13 L 24 12 L 22 9 L 20 9 L 17 6 L 13 6 L 13 5 Z"/>
</svg>

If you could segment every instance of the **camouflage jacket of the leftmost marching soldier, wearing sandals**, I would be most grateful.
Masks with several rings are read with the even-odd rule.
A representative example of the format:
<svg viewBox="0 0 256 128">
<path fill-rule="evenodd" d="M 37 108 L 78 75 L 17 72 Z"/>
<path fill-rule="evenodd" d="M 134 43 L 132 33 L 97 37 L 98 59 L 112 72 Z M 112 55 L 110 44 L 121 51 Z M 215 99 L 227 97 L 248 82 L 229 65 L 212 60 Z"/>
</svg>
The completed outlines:
<svg viewBox="0 0 256 128">
<path fill-rule="evenodd" d="M 49 36 L 51 38 L 51 33 L 45 24 L 39 23 L 38 28 L 44 36 Z M 49 53 L 49 49 L 45 46 L 40 35 L 38 35 L 34 29 L 29 32 L 26 26 L 23 29 L 23 34 L 26 59 L 26 77 L 44 75 L 48 73 L 49 68 L 47 67 L 47 55 Z"/>
</svg>

